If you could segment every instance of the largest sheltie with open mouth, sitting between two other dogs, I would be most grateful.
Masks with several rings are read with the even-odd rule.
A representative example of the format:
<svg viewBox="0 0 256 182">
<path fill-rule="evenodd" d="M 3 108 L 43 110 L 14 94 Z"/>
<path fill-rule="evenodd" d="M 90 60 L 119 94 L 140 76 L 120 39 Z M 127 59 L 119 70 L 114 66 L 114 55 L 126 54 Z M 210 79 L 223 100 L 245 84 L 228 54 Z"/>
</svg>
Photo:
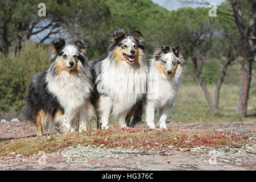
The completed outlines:
<svg viewBox="0 0 256 182">
<path fill-rule="evenodd" d="M 108 129 L 109 117 L 120 127 L 129 123 L 129 115 L 146 93 L 147 66 L 144 60 L 142 33 L 117 30 L 112 34 L 105 59 L 89 61 L 94 78 L 93 105 L 98 127 Z"/>
</svg>

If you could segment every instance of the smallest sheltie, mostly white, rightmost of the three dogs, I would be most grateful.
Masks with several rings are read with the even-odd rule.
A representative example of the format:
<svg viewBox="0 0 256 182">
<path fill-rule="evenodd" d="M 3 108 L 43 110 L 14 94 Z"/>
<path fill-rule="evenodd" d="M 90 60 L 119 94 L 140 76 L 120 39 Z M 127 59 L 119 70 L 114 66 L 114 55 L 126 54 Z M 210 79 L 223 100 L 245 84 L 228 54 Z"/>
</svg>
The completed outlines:
<svg viewBox="0 0 256 182">
<path fill-rule="evenodd" d="M 155 111 L 159 109 L 159 127 L 167 128 L 166 120 L 177 97 L 183 61 L 179 46 L 172 50 L 169 46 L 161 46 L 155 51 L 150 60 L 146 99 L 134 114 L 131 127 L 141 121 L 144 112 L 147 126 L 154 129 Z"/>
</svg>

